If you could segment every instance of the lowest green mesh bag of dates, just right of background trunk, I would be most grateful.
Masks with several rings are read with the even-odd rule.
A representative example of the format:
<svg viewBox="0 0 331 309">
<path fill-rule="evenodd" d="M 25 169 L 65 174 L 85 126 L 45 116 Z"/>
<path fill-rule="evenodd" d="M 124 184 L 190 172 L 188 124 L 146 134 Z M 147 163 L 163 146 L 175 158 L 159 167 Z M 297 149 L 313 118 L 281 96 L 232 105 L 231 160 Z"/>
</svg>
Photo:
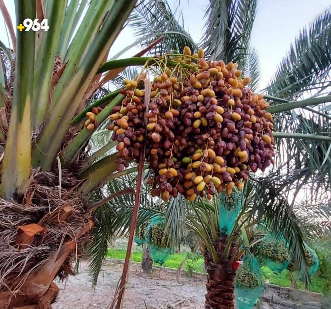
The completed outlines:
<svg viewBox="0 0 331 309">
<path fill-rule="evenodd" d="M 234 280 L 235 303 L 238 309 L 252 309 L 263 291 L 263 277 L 257 259 L 246 255 Z"/>
</svg>

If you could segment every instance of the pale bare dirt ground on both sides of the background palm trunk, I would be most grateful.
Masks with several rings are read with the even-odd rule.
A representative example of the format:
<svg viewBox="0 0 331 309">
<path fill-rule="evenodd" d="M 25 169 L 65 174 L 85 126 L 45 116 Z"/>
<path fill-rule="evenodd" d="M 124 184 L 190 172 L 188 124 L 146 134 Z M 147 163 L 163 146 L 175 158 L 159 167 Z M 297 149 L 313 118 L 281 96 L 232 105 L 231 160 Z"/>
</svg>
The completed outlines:
<svg viewBox="0 0 331 309">
<path fill-rule="evenodd" d="M 122 261 L 107 260 L 94 290 L 91 287 L 86 262 L 81 262 L 79 273 L 66 283 L 58 283 L 60 293 L 54 309 L 106 309 L 111 302 L 122 274 Z M 131 263 L 123 309 L 203 309 L 205 278 L 181 277 L 176 282 L 176 271 L 154 268 L 151 275 L 141 272 L 140 263 Z M 160 277 L 161 275 L 161 277 Z M 320 309 L 319 294 L 294 291 L 289 288 L 267 286 L 260 309 Z"/>
</svg>

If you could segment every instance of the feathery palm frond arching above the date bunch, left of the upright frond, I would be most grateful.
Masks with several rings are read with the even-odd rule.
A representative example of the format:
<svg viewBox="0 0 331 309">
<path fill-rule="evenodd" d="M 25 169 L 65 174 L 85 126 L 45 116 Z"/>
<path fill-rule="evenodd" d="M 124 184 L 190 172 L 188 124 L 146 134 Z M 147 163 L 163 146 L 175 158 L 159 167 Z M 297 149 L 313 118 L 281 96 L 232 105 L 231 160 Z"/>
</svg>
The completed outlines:
<svg viewBox="0 0 331 309">
<path fill-rule="evenodd" d="M 184 46 L 190 47 L 191 51 L 197 50 L 196 44 L 184 29 L 184 25 L 178 20 L 181 14 L 171 11 L 164 0 L 149 0 L 138 6 L 131 14 L 129 25 L 133 28 L 138 38 L 146 38 L 141 43 L 146 47 L 155 39 L 163 36 L 149 53 L 151 55 L 163 55 L 169 51 L 183 51 Z M 154 35 L 151 37 L 151 35 Z"/>
</svg>

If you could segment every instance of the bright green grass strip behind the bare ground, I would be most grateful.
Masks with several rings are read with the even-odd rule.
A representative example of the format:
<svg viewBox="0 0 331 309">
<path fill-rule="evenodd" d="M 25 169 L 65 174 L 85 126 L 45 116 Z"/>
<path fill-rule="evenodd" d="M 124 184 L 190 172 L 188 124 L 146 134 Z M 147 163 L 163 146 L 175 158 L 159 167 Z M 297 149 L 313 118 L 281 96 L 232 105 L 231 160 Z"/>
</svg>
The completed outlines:
<svg viewBox="0 0 331 309">
<path fill-rule="evenodd" d="M 109 249 L 108 257 L 116 258 L 119 260 L 124 260 L 126 254 L 126 249 Z M 186 252 L 173 253 L 163 264 L 164 267 L 177 269 L 181 261 L 186 257 Z M 134 262 L 141 262 L 142 251 L 140 248 L 133 249 L 131 253 L 131 260 Z M 155 264 L 154 265 L 159 265 Z M 263 277 L 265 280 L 269 280 L 270 284 L 280 285 L 281 287 L 290 287 L 291 281 L 288 276 L 288 271 L 285 270 L 283 273 L 276 275 L 269 268 L 263 266 L 262 268 Z M 184 266 L 185 271 L 185 266 Z M 204 272 L 203 259 L 198 260 L 194 263 L 193 271 L 195 272 Z M 297 284 L 299 289 L 305 289 L 305 285 L 299 280 L 296 276 Z M 313 276 L 311 280 L 311 290 L 313 292 L 321 292 L 323 290 L 323 279 Z"/>
</svg>

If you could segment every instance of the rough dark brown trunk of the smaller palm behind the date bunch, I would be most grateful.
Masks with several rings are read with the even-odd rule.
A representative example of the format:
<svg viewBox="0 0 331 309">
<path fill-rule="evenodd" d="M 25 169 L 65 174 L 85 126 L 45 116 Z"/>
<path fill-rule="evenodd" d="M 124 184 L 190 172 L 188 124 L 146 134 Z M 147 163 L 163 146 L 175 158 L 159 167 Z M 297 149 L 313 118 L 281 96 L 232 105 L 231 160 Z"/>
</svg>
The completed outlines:
<svg viewBox="0 0 331 309">
<path fill-rule="evenodd" d="M 218 256 L 217 263 L 213 262 L 208 251 L 204 253 L 207 271 L 205 308 L 234 309 L 234 278 L 236 272 L 232 268 L 232 264 L 237 253 L 236 245 L 231 244 L 229 259 L 222 258 L 225 249 L 224 241 L 219 240 L 215 245 L 215 249 Z"/>
</svg>

